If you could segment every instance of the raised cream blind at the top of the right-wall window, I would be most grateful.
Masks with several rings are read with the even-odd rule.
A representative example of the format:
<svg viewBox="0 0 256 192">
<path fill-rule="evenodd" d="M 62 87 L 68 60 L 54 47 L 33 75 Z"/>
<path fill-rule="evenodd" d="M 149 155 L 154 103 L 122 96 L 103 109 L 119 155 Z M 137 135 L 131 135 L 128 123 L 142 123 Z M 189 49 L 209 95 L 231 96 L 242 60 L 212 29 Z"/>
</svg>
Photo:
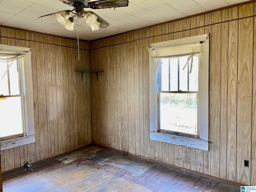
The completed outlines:
<svg viewBox="0 0 256 192">
<path fill-rule="evenodd" d="M 148 50 L 152 58 L 172 58 L 200 53 L 201 42 L 190 44 L 154 47 L 149 46 Z"/>
</svg>

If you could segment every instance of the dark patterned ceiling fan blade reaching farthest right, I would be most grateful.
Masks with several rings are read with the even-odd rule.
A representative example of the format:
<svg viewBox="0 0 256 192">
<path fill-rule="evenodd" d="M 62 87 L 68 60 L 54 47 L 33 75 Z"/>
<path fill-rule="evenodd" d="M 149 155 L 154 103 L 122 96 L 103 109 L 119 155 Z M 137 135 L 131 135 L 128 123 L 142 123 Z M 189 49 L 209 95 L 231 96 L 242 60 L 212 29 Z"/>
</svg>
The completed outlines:
<svg viewBox="0 0 256 192">
<path fill-rule="evenodd" d="M 112 7 L 126 7 L 128 6 L 128 0 L 98 0 L 88 3 L 88 6 L 92 9 L 104 9 Z"/>
</svg>

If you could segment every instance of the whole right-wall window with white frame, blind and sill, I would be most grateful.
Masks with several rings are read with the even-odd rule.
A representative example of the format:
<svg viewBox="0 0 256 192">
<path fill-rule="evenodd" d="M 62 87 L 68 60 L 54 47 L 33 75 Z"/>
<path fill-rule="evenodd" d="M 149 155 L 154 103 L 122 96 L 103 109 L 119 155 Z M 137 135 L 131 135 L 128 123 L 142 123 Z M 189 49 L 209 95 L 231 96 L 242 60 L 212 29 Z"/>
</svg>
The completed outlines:
<svg viewBox="0 0 256 192">
<path fill-rule="evenodd" d="M 209 34 L 150 44 L 150 139 L 209 150 Z"/>
</svg>

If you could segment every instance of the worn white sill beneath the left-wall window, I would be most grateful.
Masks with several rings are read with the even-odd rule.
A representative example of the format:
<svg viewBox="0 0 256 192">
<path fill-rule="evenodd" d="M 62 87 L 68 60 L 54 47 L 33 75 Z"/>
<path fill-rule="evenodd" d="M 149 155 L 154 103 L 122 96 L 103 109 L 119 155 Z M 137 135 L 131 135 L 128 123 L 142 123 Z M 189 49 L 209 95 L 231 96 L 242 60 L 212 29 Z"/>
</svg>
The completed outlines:
<svg viewBox="0 0 256 192">
<path fill-rule="evenodd" d="M 34 143 L 34 142 L 35 142 L 35 135 L 31 135 L 31 136 L 26 136 L 26 138 L 20 137 L 20 138 L 10 139 L 6 141 L 1 141 L 0 148 L 2 151 L 2 150 L 6 150 L 6 149 L 22 146 L 22 145 Z"/>
</svg>

